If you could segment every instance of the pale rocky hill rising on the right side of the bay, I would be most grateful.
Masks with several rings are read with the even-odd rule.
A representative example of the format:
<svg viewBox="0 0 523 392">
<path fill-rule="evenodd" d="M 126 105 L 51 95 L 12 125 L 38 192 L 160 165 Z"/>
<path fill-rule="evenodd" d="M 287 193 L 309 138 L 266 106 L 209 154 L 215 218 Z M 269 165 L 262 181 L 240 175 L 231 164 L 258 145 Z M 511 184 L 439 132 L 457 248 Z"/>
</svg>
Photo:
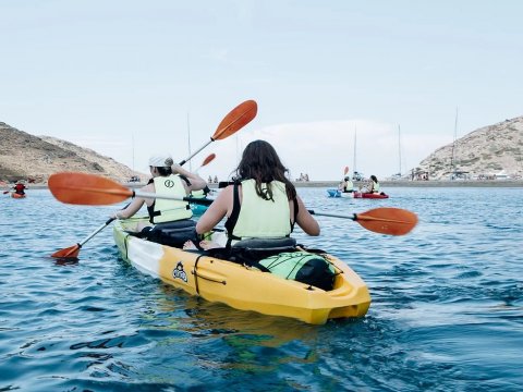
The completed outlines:
<svg viewBox="0 0 523 392">
<path fill-rule="evenodd" d="M 430 180 L 488 180 L 523 176 L 523 117 L 488 125 L 457 139 L 424 159 L 417 173 Z"/>
</svg>

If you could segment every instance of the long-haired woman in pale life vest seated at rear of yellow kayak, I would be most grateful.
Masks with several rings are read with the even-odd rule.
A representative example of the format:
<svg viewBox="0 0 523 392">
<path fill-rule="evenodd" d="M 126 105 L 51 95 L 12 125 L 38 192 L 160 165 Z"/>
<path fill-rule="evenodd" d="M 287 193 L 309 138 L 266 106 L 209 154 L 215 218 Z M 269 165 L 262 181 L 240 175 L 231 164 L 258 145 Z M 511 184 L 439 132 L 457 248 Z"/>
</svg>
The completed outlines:
<svg viewBox="0 0 523 392">
<path fill-rule="evenodd" d="M 294 223 L 309 235 L 319 235 L 318 222 L 296 195 L 294 185 L 285 176 L 288 169 L 269 143 L 250 143 L 235 172 L 235 184 L 223 188 L 199 218 L 197 234 L 211 231 L 227 217 L 227 246 L 244 238 L 287 237 Z M 192 245 L 187 243 L 186 248 Z M 199 245 L 203 248 L 222 246 L 206 241 Z"/>
</svg>

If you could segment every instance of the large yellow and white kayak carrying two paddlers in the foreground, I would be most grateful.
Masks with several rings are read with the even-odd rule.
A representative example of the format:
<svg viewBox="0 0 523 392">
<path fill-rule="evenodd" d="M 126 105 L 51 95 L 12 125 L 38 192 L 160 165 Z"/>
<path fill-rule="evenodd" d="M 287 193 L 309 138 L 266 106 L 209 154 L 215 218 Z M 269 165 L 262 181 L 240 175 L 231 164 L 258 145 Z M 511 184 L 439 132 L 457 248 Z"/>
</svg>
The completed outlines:
<svg viewBox="0 0 523 392">
<path fill-rule="evenodd" d="M 290 317 L 313 324 L 323 324 L 333 318 L 363 317 L 370 305 L 365 282 L 331 255 L 323 256 L 337 274 L 333 289 L 324 291 L 219 259 L 206 252 L 183 250 L 131 235 L 142 220 L 146 219 L 132 218 L 114 223 L 113 236 L 121 257 L 139 271 L 191 295 L 241 310 Z"/>
</svg>

